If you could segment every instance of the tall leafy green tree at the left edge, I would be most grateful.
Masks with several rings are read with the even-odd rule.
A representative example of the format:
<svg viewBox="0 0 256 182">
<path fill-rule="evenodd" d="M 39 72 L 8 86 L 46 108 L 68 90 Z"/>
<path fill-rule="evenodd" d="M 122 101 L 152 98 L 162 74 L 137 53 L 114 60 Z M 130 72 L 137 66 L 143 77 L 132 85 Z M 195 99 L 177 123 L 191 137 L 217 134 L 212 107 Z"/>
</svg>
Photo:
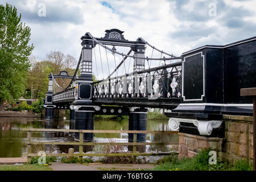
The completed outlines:
<svg viewBox="0 0 256 182">
<path fill-rule="evenodd" d="M 23 94 L 30 68 L 31 29 L 20 19 L 15 7 L 0 5 L 0 109 L 5 100 L 13 102 Z"/>
</svg>

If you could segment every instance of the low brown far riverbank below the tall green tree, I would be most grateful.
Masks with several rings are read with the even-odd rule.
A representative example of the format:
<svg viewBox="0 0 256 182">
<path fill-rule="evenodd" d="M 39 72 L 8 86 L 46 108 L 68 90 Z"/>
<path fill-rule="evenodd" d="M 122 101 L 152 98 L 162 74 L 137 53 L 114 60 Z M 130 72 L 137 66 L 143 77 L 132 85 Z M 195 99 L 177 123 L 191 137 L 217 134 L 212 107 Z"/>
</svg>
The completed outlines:
<svg viewBox="0 0 256 182">
<path fill-rule="evenodd" d="M 0 117 L 42 117 L 39 113 L 33 113 L 32 111 L 0 111 Z"/>
</svg>

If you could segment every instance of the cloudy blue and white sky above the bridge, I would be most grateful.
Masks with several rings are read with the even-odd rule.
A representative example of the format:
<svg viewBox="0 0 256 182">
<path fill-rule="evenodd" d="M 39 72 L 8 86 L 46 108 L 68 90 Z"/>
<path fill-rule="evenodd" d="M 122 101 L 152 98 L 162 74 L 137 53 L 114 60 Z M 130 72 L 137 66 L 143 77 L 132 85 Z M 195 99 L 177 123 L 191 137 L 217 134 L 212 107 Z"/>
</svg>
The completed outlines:
<svg viewBox="0 0 256 182">
<path fill-rule="evenodd" d="M 256 1 L 235 0 L 0 0 L 10 3 L 31 27 L 32 54 L 51 50 L 79 58 L 81 36 L 103 37 L 106 29 L 142 37 L 176 56 L 205 44 L 223 45 L 256 36 Z M 42 3 L 46 16 L 42 13 Z M 214 6 L 216 9 L 214 9 Z M 216 10 L 216 11 L 215 11 Z M 149 54 L 151 51 L 148 51 Z"/>
</svg>

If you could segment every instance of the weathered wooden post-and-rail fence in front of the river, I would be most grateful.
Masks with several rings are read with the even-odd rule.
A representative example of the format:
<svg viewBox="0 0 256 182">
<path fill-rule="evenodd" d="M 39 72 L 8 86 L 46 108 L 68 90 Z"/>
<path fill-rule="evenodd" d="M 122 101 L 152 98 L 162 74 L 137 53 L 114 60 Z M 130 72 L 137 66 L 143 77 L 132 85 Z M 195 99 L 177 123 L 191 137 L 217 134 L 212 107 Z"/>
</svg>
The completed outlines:
<svg viewBox="0 0 256 182">
<path fill-rule="evenodd" d="M 133 162 L 136 161 L 136 156 L 145 155 L 170 155 L 171 153 L 138 153 L 137 146 L 143 145 L 177 145 L 177 142 L 137 142 L 137 134 L 170 134 L 177 133 L 177 131 L 139 131 L 139 130 L 67 130 L 67 129 L 22 129 L 22 131 L 27 131 L 27 163 L 31 164 L 31 157 L 38 156 L 38 154 L 32 154 L 32 144 L 56 144 L 56 145 L 78 145 L 79 154 L 46 154 L 46 156 L 79 156 L 79 161 L 82 162 L 82 156 L 133 156 Z M 48 132 L 76 132 L 80 133 L 79 142 L 33 142 L 32 141 L 32 131 L 48 131 Z M 133 133 L 134 142 L 114 142 L 114 143 L 104 143 L 104 142 L 84 142 L 84 133 Z M 113 146 L 133 146 L 133 153 L 110 153 L 110 154 L 83 154 L 82 146 L 95 146 L 95 145 L 113 145 Z"/>
</svg>

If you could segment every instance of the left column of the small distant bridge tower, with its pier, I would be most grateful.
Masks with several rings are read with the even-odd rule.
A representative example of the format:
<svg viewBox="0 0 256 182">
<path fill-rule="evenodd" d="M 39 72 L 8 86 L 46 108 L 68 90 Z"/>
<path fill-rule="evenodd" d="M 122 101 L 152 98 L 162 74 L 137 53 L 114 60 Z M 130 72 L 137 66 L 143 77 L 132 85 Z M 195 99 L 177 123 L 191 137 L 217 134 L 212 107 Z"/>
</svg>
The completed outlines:
<svg viewBox="0 0 256 182">
<path fill-rule="evenodd" d="M 46 107 L 46 120 L 53 120 L 53 109 L 56 105 L 53 105 L 52 103 L 52 76 L 49 75 L 48 78 L 48 92 L 46 93 L 46 102 L 44 103 L 44 107 Z"/>
</svg>

